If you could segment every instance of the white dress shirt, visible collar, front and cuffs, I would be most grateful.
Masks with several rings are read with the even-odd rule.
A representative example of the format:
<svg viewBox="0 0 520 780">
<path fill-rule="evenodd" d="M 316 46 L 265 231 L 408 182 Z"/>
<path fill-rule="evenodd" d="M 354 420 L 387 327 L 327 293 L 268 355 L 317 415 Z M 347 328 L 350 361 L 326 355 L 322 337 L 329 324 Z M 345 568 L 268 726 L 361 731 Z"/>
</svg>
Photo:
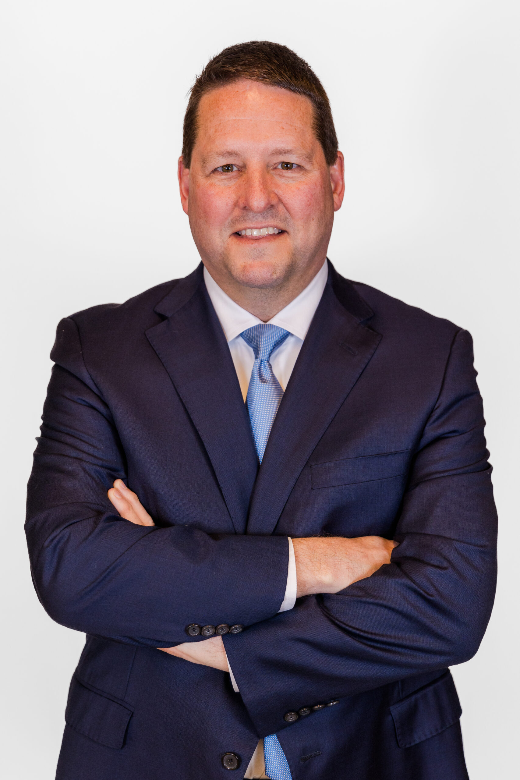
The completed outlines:
<svg viewBox="0 0 520 780">
<path fill-rule="evenodd" d="M 285 309 L 279 311 L 278 314 L 275 314 L 274 317 L 269 320 L 269 324 L 278 325 L 278 327 L 284 328 L 284 330 L 290 333 L 288 338 L 285 339 L 285 342 L 272 353 L 270 360 L 274 376 L 278 379 L 281 388 L 284 391 L 291 378 L 292 369 L 295 367 L 296 359 L 299 356 L 299 350 L 302 348 L 303 339 L 305 339 L 307 335 L 310 323 L 317 310 L 318 303 L 320 303 L 321 296 L 323 295 L 325 285 L 327 284 L 327 276 L 328 268 L 327 261 L 325 261 L 320 268 L 320 271 L 317 272 L 317 275 L 313 278 L 312 282 L 306 286 L 302 293 L 292 300 L 291 303 L 288 303 Z M 253 349 L 246 344 L 240 334 L 247 330 L 247 328 L 252 328 L 253 325 L 261 324 L 262 321 L 259 320 L 258 317 L 255 317 L 254 314 L 242 309 L 238 303 L 235 303 L 234 300 L 226 295 L 224 290 L 218 286 L 217 282 L 214 281 L 205 267 L 204 282 L 206 283 L 207 293 L 210 296 L 211 303 L 213 303 L 214 310 L 217 313 L 218 320 L 220 321 L 222 330 L 228 341 L 229 351 L 231 352 L 235 371 L 239 378 L 240 389 L 242 390 L 242 397 L 245 402 L 255 356 Z M 285 612 L 287 609 L 292 609 L 296 601 L 296 565 L 294 548 L 290 537 L 288 537 L 288 545 L 289 562 L 287 585 L 285 587 L 285 597 L 281 602 L 281 607 L 278 612 Z M 228 668 L 233 690 L 235 690 L 236 693 L 239 693 L 239 688 L 235 682 L 235 677 L 233 676 L 229 664 Z M 246 775 L 244 775 L 245 778 L 266 777 L 263 743 L 264 740 L 260 739 L 260 742 L 253 753 L 253 758 L 249 763 L 249 767 L 246 770 Z"/>
</svg>

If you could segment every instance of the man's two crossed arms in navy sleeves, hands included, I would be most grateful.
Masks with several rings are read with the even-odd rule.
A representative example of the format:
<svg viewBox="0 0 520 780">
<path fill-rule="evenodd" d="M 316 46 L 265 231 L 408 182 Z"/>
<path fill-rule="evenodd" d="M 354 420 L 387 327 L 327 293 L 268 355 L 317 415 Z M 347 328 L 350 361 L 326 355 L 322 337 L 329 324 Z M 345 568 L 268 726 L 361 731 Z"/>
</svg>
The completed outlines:
<svg viewBox="0 0 520 780">
<path fill-rule="evenodd" d="M 285 728 L 281 715 L 308 702 L 476 652 L 493 603 L 496 514 L 468 334 L 455 337 L 414 444 L 398 547 L 372 537 L 295 540 L 302 597 L 280 614 L 286 537 L 214 537 L 182 516 L 154 527 L 127 522 L 122 505 L 114 512 L 106 491 L 128 478 L 129 465 L 111 407 L 71 339 L 55 353 L 26 524 L 35 587 L 53 619 L 176 654 L 214 648 L 215 658 L 189 660 L 226 671 L 218 642 L 186 643 L 185 627 L 242 623 L 247 630 L 223 644 L 260 736 Z"/>
</svg>

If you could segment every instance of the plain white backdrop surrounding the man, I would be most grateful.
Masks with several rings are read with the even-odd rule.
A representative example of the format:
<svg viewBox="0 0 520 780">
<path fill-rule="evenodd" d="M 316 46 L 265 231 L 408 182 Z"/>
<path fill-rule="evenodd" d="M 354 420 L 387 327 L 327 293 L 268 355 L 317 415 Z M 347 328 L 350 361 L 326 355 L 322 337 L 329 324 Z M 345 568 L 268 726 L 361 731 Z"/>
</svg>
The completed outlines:
<svg viewBox="0 0 520 780">
<path fill-rule="evenodd" d="M 175 180 L 186 92 L 210 55 L 252 38 L 294 48 L 331 98 L 347 175 L 336 268 L 475 339 L 501 575 L 482 647 L 454 674 L 470 777 L 516 776 L 519 13 L 512 0 L 2 0 L 2 778 L 54 778 L 83 644 L 39 605 L 23 536 L 55 326 L 195 267 Z"/>
</svg>

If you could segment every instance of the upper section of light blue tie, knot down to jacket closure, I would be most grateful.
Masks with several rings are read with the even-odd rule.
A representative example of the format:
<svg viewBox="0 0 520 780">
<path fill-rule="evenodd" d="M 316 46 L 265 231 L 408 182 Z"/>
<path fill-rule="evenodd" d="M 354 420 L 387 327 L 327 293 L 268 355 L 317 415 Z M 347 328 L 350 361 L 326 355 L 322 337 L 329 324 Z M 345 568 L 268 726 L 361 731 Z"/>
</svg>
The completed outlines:
<svg viewBox="0 0 520 780">
<path fill-rule="evenodd" d="M 259 324 L 253 325 L 253 328 L 248 328 L 240 335 L 255 354 L 246 402 L 256 452 L 262 463 L 273 420 L 284 395 L 278 379 L 273 374 L 269 358 L 290 334 L 283 328 L 278 328 L 278 325 Z"/>
</svg>

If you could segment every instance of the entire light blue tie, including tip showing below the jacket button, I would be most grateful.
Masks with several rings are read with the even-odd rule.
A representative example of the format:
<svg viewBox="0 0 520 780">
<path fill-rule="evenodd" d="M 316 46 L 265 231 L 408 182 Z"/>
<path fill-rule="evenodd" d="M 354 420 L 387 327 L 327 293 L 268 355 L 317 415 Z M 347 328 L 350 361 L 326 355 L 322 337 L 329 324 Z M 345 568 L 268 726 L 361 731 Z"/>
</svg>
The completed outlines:
<svg viewBox="0 0 520 780">
<path fill-rule="evenodd" d="M 285 342 L 289 333 L 278 325 L 258 324 L 240 335 L 255 355 L 246 402 L 256 452 L 262 463 L 274 417 L 284 395 L 269 358 Z M 291 770 L 276 734 L 264 737 L 264 761 L 265 773 L 271 780 L 291 780 Z"/>
</svg>

